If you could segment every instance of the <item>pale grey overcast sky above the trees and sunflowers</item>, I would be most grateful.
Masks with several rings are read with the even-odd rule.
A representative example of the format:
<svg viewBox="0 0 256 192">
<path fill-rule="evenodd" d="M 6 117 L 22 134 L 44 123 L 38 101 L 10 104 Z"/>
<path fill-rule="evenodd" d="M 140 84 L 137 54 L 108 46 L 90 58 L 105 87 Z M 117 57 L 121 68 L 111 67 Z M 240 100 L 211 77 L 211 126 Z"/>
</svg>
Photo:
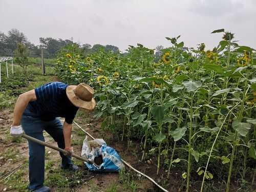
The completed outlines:
<svg viewBox="0 0 256 192">
<path fill-rule="evenodd" d="M 0 0 L 0 31 L 16 28 L 34 44 L 39 37 L 80 44 L 140 43 L 167 47 L 164 37 L 181 35 L 187 47 L 212 48 L 224 28 L 241 45 L 256 48 L 256 0 Z"/>
</svg>

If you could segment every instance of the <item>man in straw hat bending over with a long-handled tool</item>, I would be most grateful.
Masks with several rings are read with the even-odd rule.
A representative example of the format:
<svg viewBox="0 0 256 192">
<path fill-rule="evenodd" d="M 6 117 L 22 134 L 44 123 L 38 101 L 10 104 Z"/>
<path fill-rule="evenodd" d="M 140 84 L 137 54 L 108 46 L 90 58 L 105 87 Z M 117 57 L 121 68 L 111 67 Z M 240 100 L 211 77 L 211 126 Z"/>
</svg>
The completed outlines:
<svg viewBox="0 0 256 192">
<path fill-rule="evenodd" d="M 58 143 L 58 147 L 69 154 L 63 155 L 61 168 L 76 171 L 78 167 L 71 161 L 72 122 L 79 108 L 93 110 L 96 102 L 94 90 L 85 83 L 68 86 L 61 82 L 50 82 L 19 95 L 11 126 L 11 135 L 22 136 L 23 129 L 31 137 L 44 141 L 45 130 Z M 65 117 L 62 125 L 57 117 Z M 21 125 L 20 125 L 21 124 Z M 37 192 L 50 191 L 44 186 L 45 180 L 45 146 L 29 141 L 29 186 Z"/>
</svg>

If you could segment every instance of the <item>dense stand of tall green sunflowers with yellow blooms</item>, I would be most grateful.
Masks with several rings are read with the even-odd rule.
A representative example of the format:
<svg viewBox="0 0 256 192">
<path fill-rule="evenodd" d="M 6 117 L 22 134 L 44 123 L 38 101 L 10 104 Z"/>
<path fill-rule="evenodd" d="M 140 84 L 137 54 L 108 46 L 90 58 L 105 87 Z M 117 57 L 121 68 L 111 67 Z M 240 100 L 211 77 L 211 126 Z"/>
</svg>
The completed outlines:
<svg viewBox="0 0 256 192">
<path fill-rule="evenodd" d="M 140 44 L 125 53 L 84 55 L 78 45 L 62 49 L 59 79 L 95 90 L 96 119 L 127 142 L 141 142 L 141 159 L 152 158 L 157 175 L 181 170 L 186 191 L 200 181 L 237 182 L 243 190 L 256 173 L 256 54 L 223 29 L 213 50 L 184 47 L 178 37 L 155 50 Z"/>
</svg>

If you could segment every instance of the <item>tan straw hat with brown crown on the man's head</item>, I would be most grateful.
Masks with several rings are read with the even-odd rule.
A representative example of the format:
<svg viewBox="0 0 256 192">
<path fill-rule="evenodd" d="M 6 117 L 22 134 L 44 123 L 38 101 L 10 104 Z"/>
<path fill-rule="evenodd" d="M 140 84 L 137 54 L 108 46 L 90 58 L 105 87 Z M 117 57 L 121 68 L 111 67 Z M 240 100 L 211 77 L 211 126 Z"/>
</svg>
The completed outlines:
<svg viewBox="0 0 256 192">
<path fill-rule="evenodd" d="M 87 110 L 93 110 L 96 106 L 93 93 L 93 88 L 83 82 L 78 84 L 78 86 L 68 86 L 66 89 L 69 100 L 78 108 Z"/>
</svg>

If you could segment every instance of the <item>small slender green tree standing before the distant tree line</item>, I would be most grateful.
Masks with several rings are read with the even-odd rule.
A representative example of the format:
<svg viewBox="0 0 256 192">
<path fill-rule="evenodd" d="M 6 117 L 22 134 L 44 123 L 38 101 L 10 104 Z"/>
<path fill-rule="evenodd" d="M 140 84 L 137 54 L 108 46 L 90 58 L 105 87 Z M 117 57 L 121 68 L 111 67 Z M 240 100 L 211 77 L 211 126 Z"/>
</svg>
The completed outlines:
<svg viewBox="0 0 256 192">
<path fill-rule="evenodd" d="M 16 49 L 16 57 L 15 62 L 23 68 L 24 72 L 27 73 L 27 67 L 29 65 L 28 60 L 28 48 L 25 44 L 22 44 L 21 42 L 17 43 L 17 49 Z"/>
</svg>

